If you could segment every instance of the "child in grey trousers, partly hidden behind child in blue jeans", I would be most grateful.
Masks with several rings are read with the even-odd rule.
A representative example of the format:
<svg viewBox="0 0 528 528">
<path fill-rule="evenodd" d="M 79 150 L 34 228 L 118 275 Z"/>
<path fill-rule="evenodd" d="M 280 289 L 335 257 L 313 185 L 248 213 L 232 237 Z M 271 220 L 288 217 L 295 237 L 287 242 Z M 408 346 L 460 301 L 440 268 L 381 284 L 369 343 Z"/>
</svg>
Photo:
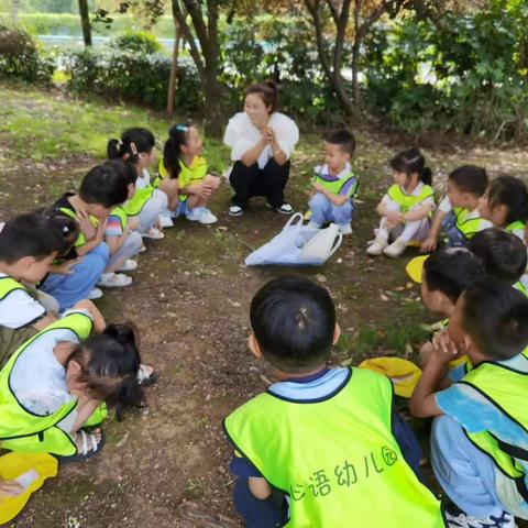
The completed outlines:
<svg viewBox="0 0 528 528">
<path fill-rule="evenodd" d="M 123 175 L 129 189 L 127 199 L 130 200 L 135 193 L 135 180 L 138 179 L 135 168 L 122 160 L 112 160 L 108 162 L 108 165 Z M 105 240 L 110 251 L 110 261 L 101 277 L 101 283 L 114 280 L 119 276 L 124 277 L 129 284 L 132 283 L 132 277 L 116 274 L 116 272 L 133 272 L 138 268 L 138 262 L 132 257 L 140 253 L 143 240 L 138 231 L 131 230 L 132 223 L 129 222 L 129 216 L 122 206 L 117 206 L 110 212 L 105 232 Z"/>
</svg>

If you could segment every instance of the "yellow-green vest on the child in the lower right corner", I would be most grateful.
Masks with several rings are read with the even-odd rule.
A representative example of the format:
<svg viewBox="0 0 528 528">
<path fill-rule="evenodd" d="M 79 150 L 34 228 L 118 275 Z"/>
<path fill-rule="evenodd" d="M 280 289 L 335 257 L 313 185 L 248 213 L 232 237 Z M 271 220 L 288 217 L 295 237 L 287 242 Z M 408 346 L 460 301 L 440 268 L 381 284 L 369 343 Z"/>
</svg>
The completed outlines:
<svg viewBox="0 0 528 528">
<path fill-rule="evenodd" d="M 522 355 L 527 358 L 526 350 Z M 486 361 L 473 367 L 459 383 L 473 387 L 528 435 L 528 373 Z M 519 495 L 528 502 L 528 480 L 520 464 L 522 461 L 525 468 L 528 465 L 528 451 L 508 444 L 505 439 L 499 438 L 499 431 L 493 431 L 493 435 L 488 431 L 466 431 L 466 435 L 481 451 L 491 457 L 503 474 L 515 482 Z"/>
</svg>

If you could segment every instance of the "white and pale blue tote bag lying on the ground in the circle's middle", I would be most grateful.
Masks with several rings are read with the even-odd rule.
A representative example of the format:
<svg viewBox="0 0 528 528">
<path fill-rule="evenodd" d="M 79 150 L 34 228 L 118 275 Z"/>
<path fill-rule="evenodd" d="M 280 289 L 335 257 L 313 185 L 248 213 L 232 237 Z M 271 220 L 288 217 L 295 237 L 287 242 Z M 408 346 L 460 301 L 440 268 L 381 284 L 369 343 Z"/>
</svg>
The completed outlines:
<svg viewBox="0 0 528 528">
<path fill-rule="evenodd" d="M 302 226 L 302 215 L 296 212 L 283 230 L 270 242 L 251 253 L 246 266 L 321 266 L 343 241 L 336 223 L 326 229 Z"/>
</svg>

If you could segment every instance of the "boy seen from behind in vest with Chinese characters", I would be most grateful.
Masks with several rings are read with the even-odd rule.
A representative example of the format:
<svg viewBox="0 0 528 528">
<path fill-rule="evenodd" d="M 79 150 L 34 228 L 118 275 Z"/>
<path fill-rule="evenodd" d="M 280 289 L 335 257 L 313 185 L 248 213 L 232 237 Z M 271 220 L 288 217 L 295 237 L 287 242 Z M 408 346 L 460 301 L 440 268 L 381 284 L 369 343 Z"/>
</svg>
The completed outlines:
<svg viewBox="0 0 528 528">
<path fill-rule="evenodd" d="M 420 450 L 394 411 L 391 381 L 327 367 L 340 336 L 328 292 L 301 277 L 272 280 L 253 298 L 250 318 L 250 350 L 279 382 L 223 422 L 246 526 L 283 526 L 288 517 L 288 526 L 318 528 L 350 519 L 443 526 L 439 502 L 406 461 L 416 465 Z M 404 443 L 415 450 L 407 459 Z"/>
</svg>

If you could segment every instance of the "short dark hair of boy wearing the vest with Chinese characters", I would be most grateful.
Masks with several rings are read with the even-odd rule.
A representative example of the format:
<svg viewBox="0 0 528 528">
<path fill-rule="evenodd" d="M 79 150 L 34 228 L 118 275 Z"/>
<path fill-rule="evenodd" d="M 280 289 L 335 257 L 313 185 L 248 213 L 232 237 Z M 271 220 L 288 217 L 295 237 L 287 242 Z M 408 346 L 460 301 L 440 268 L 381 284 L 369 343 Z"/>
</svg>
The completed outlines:
<svg viewBox="0 0 528 528">
<path fill-rule="evenodd" d="M 283 372 L 309 372 L 330 355 L 336 308 L 329 293 L 307 278 L 267 283 L 251 301 L 250 319 L 262 353 Z"/>
</svg>

